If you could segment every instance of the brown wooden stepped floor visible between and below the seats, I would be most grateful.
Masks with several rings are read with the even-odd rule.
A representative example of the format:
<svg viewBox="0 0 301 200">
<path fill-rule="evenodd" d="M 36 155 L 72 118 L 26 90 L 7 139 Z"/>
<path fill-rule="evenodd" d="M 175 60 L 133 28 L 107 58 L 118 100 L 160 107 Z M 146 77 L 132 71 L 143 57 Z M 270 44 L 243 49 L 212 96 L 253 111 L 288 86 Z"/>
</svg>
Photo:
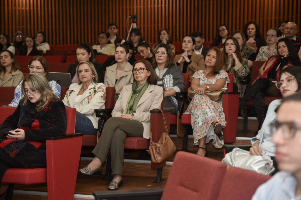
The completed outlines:
<svg viewBox="0 0 301 200">
<path fill-rule="evenodd" d="M 253 137 L 254 133 L 257 130 L 257 120 L 248 120 L 248 131 L 244 133 L 243 130 L 243 120 L 238 120 L 237 126 L 237 137 Z M 177 151 L 182 150 L 182 138 L 172 138 L 174 141 Z M 250 144 L 250 141 L 247 140 L 239 140 L 235 141 L 237 144 Z M 208 157 L 216 160 L 223 159 L 223 150 L 214 148 L 212 142 L 206 144 L 208 149 Z M 82 149 L 82 157 L 93 157 L 92 155 L 93 148 L 85 147 Z M 167 161 L 172 162 L 176 152 L 170 156 Z M 188 138 L 188 152 L 196 153 L 197 146 L 193 146 L 193 138 Z M 124 182 L 123 186 L 120 188 L 124 189 L 147 189 L 147 188 L 163 188 L 166 184 L 166 180 L 161 183 L 152 183 L 156 177 L 156 170 L 150 169 L 150 164 L 148 163 L 133 163 L 126 162 L 126 159 L 131 160 L 144 160 L 145 162 L 150 161 L 150 156 L 146 151 L 137 151 L 137 150 L 125 150 L 124 154 L 125 163 L 124 163 Z M 80 168 L 86 166 L 90 161 L 89 160 L 81 160 Z M 166 165 L 163 168 L 163 178 L 167 179 L 171 165 Z M 105 166 L 102 170 L 104 174 Z M 103 179 L 104 175 L 98 176 L 85 176 L 83 174 L 78 174 L 76 181 L 75 194 L 84 194 L 84 195 L 92 195 L 93 191 L 102 191 L 107 190 L 107 187 L 111 180 Z M 15 190 L 27 190 L 27 191 L 40 191 L 47 192 L 47 184 L 39 184 L 39 185 L 15 185 Z M 0 200 L 4 199 L 4 196 L 0 196 Z M 21 195 L 14 194 L 13 199 L 47 199 L 47 196 L 40 195 Z M 77 199 L 77 198 L 75 198 Z M 81 198 L 83 199 L 83 198 Z"/>
</svg>

